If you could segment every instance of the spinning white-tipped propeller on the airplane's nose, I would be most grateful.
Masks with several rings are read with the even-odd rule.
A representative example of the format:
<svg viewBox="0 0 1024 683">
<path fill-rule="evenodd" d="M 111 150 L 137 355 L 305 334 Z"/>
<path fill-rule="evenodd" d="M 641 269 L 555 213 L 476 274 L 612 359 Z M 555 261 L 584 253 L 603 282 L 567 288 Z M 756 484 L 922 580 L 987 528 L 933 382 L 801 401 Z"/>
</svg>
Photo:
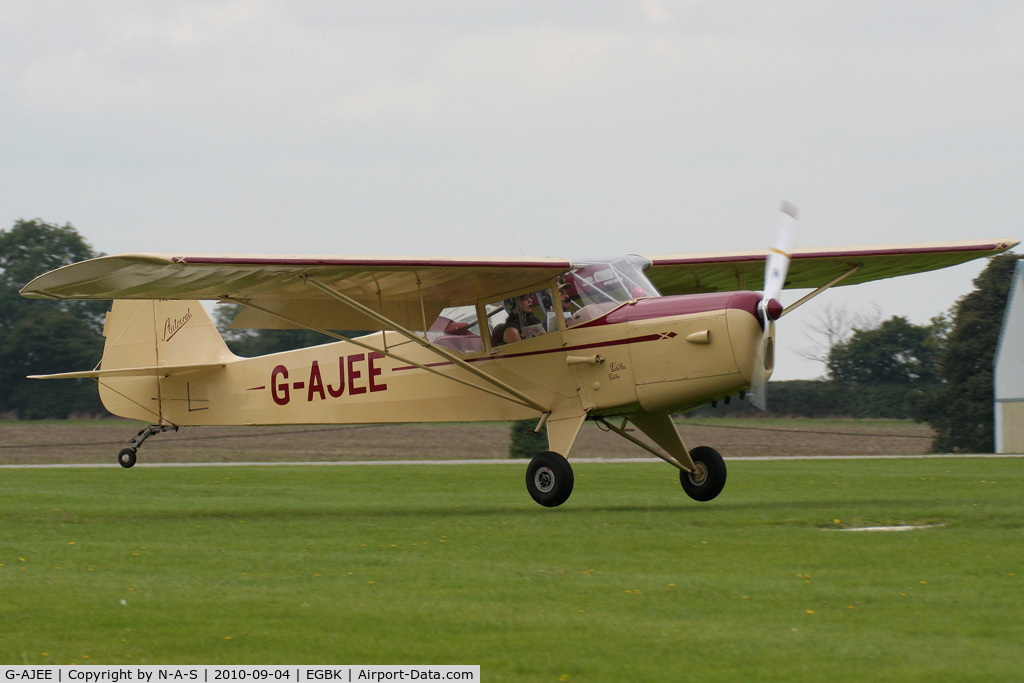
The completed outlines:
<svg viewBox="0 0 1024 683">
<path fill-rule="evenodd" d="M 751 381 L 751 402 L 762 411 L 767 409 L 765 384 L 775 365 L 774 340 L 771 332 L 775 321 L 782 314 L 782 304 L 778 296 L 785 285 L 785 273 L 790 269 L 790 251 L 793 232 L 797 226 L 797 207 L 782 202 L 779 209 L 778 225 L 775 230 L 775 246 L 765 260 L 765 288 L 758 303 L 758 317 L 761 319 L 761 343 L 754 361 L 754 377 Z"/>
</svg>

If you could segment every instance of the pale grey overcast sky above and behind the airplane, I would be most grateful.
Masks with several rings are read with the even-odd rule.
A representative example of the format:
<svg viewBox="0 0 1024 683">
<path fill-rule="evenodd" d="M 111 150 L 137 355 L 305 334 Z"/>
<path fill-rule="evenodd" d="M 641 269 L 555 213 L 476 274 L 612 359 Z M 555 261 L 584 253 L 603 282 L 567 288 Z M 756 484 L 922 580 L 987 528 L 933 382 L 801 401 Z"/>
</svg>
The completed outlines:
<svg viewBox="0 0 1024 683">
<path fill-rule="evenodd" d="M 106 253 L 529 256 L 1024 237 L 1024 4 L 0 4 L 0 227 Z M 839 288 L 926 323 L 983 262 Z M 790 303 L 799 293 L 785 293 Z"/>
</svg>

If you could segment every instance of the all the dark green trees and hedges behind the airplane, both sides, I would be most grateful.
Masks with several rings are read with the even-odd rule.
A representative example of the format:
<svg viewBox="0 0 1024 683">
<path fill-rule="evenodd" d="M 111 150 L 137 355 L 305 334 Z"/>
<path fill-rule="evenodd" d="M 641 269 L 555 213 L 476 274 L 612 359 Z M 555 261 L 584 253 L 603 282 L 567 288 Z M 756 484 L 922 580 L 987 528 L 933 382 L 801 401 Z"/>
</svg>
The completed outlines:
<svg viewBox="0 0 1024 683">
<path fill-rule="evenodd" d="M 0 416 L 38 420 L 105 414 L 92 380 L 65 380 L 57 389 L 26 376 L 95 367 L 110 302 L 29 300 L 18 294 L 43 272 L 97 256 L 70 223 L 17 220 L 0 230 Z M 975 289 L 928 325 L 894 316 L 846 331 L 825 330 L 828 343 L 820 359 L 826 378 L 769 383 L 768 415 L 909 418 L 932 425 L 937 452 L 990 452 L 992 361 L 1017 258 L 990 259 Z M 333 341 L 308 330 L 227 330 L 234 312 L 233 306 L 218 306 L 214 318 L 238 355 Z M 691 415 L 744 416 L 755 410 L 732 400 Z M 513 449 L 535 424 L 513 427 Z M 537 451 L 535 442 L 521 447 Z"/>
</svg>

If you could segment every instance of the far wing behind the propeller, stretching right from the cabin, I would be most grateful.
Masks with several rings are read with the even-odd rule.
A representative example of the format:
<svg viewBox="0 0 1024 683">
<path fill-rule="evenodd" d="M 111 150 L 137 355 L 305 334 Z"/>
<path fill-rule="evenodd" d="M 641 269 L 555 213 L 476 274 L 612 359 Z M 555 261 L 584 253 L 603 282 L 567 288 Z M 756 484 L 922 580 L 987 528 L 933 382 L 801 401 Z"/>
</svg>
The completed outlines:
<svg viewBox="0 0 1024 683">
<path fill-rule="evenodd" d="M 909 275 L 994 256 L 1015 247 L 1018 240 L 981 240 L 862 247 L 796 249 L 791 254 L 785 289 L 813 289 L 857 270 L 839 284 Z M 761 290 L 768 250 L 644 256 L 651 262 L 646 274 L 662 294 L 696 294 Z"/>
</svg>

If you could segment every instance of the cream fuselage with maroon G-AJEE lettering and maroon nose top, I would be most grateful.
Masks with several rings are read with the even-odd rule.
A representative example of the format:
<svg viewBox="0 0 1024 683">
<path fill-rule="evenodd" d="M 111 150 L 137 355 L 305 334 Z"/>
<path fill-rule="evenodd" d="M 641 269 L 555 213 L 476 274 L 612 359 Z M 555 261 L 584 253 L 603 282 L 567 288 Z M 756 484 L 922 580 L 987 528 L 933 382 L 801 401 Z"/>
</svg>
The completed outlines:
<svg viewBox="0 0 1024 683">
<path fill-rule="evenodd" d="M 756 292 L 641 298 L 605 307 L 581 325 L 514 344 L 473 350 L 482 344 L 461 329 L 455 330 L 459 334 L 435 336 L 432 343 L 468 349 L 461 354 L 467 362 L 555 413 L 675 413 L 751 385 L 764 337 L 757 311 L 760 300 Z M 175 339 L 184 341 L 183 335 Z M 152 421 L 154 411 L 140 408 L 147 402 L 158 409 L 161 420 L 177 425 L 473 422 L 538 416 L 532 408 L 452 381 L 450 377 L 483 384 L 397 333 L 374 333 L 358 342 L 371 348 L 337 342 L 255 358 L 230 357 L 220 368 L 170 377 L 112 378 L 101 394 L 116 414 Z M 173 344 L 174 339 L 165 343 Z M 137 389 L 143 381 L 152 383 L 148 400 L 137 395 L 125 400 L 127 383 Z"/>
</svg>

